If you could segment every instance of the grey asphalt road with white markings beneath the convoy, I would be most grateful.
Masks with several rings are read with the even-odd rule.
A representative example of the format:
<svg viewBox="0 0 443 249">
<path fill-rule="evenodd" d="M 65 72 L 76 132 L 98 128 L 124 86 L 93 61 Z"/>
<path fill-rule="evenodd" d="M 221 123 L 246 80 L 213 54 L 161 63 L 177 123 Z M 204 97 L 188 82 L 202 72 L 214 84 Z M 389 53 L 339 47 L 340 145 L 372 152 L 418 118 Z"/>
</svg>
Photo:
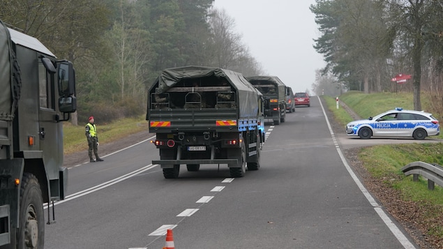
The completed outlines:
<svg viewBox="0 0 443 249">
<path fill-rule="evenodd" d="M 69 196 L 46 225 L 45 248 L 418 248 L 370 197 L 329 128 L 319 100 L 266 126 L 258 171 L 181 167 L 164 179 L 149 142 L 69 170 Z M 74 165 L 73 165 L 74 166 Z"/>
</svg>

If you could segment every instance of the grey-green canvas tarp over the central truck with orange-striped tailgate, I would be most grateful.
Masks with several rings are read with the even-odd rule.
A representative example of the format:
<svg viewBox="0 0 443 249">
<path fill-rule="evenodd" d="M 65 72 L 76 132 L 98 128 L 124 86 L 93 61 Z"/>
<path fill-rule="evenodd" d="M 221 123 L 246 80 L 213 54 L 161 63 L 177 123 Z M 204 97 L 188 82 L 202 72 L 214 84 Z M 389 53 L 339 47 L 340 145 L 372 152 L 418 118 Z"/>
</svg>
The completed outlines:
<svg viewBox="0 0 443 249">
<path fill-rule="evenodd" d="M 211 68 L 204 66 L 184 66 L 180 68 L 168 68 L 160 73 L 156 82 L 149 91 L 152 93 L 164 93 L 174 87 L 181 80 L 197 79 L 201 77 L 225 78 L 237 92 L 239 101 L 239 117 L 247 118 L 257 116 L 258 102 L 257 90 L 246 80 L 241 73 L 222 68 Z M 157 88 L 157 90 L 155 89 Z"/>
</svg>

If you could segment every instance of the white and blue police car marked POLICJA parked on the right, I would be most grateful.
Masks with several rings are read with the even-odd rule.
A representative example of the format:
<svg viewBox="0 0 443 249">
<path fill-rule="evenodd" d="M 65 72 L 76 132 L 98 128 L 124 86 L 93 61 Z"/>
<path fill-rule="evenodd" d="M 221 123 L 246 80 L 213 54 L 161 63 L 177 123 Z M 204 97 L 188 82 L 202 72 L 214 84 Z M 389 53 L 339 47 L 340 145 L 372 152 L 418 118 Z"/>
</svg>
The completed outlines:
<svg viewBox="0 0 443 249">
<path fill-rule="evenodd" d="M 369 119 L 352 121 L 346 125 L 346 133 L 361 139 L 377 137 L 414 137 L 425 139 L 440 134 L 438 120 L 423 111 L 396 108 Z"/>
</svg>

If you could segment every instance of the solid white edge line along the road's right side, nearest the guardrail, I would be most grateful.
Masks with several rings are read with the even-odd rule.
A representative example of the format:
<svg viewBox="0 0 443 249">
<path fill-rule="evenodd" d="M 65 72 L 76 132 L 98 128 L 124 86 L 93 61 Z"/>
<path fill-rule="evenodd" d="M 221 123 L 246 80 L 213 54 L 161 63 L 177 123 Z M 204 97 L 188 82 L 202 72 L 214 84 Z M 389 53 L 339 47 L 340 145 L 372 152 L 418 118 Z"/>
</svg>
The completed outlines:
<svg viewBox="0 0 443 249">
<path fill-rule="evenodd" d="M 329 128 L 329 132 L 331 133 L 331 137 L 335 138 L 335 135 L 333 134 L 333 131 L 332 131 L 332 128 L 331 128 L 331 123 L 329 123 L 328 116 L 326 116 L 326 112 L 324 112 L 324 107 L 322 105 L 322 100 L 320 100 L 320 96 L 317 96 L 317 98 L 318 98 L 318 100 L 320 102 L 320 106 L 322 107 L 324 119 L 326 119 L 326 123 L 328 124 L 328 128 Z M 341 158 L 341 160 L 343 162 L 343 165 L 345 165 L 345 167 L 347 169 L 347 172 L 349 172 L 349 174 L 351 175 L 352 179 L 354 179 L 354 182 L 356 183 L 356 185 L 359 186 L 359 188 L 360 188 L 361 192 L 363 193 L 363 195 L 366 197 L 366 199 L 368 199 L 368 202 L 374 207 L 375 212 L 377 212 L 378 216 L 380 216 L 380 218 L 383 220 L 384 224 L 386 224 L 386 226 L 391 230 L 392 234 L 394 236 L 396 236 L 396 238 L 398 239 L 398 241 L 402 244 L 402 246 L 404 248 L 407 248 L 407 249 L 415 248 L 415 246 L 412 245 L 412 243 L 409 241 L 409 239 L 406 238 L 405 234 L 403 234 L 403 232 L 401 232 L 400 229 L 398 229 L 398 227 L 392 222 L 391 218 L 389 218 L 389 216 L 386 215 L 386 213 L 383 211 L 383 209 L 380 208 L 380 205 L 377 204 L 377 202 L 372 197 L 372 195 L 370 195 L 368 190 L 366 190 L 366 188 L 363 186 L 361 181 L 354 174 L 354 172 L 352 171 L 350 165 L 347 164 L 346 158 L 345 158 L 345 156 L 343 156 L 343 153 L 340 150 L 340 147 L 338 146 L 338 143 L 336 142 L 335 139 L 333 139 L 333 142 L 336 145 L 336 149 L 337 149 L 338 155 L 340 156 L 340 158 Z"/>
</svg>

